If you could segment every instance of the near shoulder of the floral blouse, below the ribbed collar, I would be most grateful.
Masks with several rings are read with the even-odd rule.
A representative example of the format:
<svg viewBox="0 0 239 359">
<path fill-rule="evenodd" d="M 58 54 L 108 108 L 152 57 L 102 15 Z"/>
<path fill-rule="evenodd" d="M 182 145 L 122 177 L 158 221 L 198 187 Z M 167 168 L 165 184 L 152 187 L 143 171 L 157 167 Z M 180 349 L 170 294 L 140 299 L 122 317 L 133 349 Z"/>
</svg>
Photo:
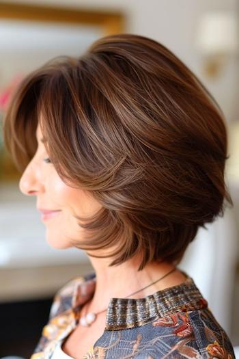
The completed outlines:
<svg viewBox="0 0 239 359">
<path fill-rule="evenodd" d="M 101 351 L 107 358 L 235 359 L 225 330 L 209 308 L 175 310 L 145 325 L 105 331 L 96 343 L 96 358 Z"/>
</svg>

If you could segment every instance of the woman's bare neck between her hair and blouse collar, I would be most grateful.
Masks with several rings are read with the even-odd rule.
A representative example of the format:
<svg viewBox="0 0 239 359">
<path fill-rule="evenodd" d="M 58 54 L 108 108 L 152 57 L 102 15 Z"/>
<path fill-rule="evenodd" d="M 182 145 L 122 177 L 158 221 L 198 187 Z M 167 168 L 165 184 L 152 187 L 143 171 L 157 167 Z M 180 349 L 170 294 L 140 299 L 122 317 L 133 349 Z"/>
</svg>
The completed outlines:
<svg viewBox="0 0 239 359">
<path fill-rule="evenodd" d="M 96 289 L 88 309 L 94 312 L 107 308 L 112 297 L 142 298 L 156 291 L 181 284 L 186 280 L 184 274 L 177 268 L 167 275 L 169 271 L 175 268 L 175 265 L 166 261 L 147 263 L 143 270 L 137 271 L 141 263 L 139 257 L 131 258 L 115 267 L 109 267 L 112 258 L 111 260 L 109 258 L 89 258 L 96 272 Z M 165 278 L 147 287 L 163 276 Z M 144 287 L 147 288 L 143 289 Z M 142 290 L 140 291 L 140 289 Z M 139 293 L 130 295 L 136 291 L 139 291 Z"/>
</svg>

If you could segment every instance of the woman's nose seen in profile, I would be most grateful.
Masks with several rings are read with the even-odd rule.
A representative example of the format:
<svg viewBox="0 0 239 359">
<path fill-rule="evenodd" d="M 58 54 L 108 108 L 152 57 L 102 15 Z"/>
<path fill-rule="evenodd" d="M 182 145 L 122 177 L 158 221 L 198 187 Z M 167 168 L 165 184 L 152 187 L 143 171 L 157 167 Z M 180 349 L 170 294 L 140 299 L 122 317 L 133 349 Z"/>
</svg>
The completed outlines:
<svg viewBox="0 0 239 359">
<path fill-rule="evenodd" d="M 29 163 L 19 181 L 20 191 L 26 196 L 32 196 L 42 193 L 44 186 L 40 181 L 40 169 Z"/>
</svg>

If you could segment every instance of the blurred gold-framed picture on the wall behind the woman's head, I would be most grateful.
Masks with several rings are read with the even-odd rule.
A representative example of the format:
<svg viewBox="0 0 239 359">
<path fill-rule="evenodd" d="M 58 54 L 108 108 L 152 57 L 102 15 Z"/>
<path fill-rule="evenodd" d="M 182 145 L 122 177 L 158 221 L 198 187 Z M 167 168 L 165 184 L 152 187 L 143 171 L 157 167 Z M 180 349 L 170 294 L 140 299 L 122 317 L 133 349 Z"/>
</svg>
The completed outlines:
<svg viewBox="0 0 239 359">
<path fill-rule="evenodd" d="M 119 32 L 119 12 L 0 3 L 0 181 L 20 177 L 2 139 L 5 107 L 18 81 L 53 57 L 79 56 L 97 38 Z"/>
</svg>

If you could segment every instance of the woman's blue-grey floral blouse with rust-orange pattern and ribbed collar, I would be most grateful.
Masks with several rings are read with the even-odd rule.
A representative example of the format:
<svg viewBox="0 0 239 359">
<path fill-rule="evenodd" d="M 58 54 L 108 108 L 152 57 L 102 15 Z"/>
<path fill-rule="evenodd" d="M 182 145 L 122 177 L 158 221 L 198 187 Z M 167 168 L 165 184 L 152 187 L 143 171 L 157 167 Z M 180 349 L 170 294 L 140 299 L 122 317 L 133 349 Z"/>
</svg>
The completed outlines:
<svg viewBox="0 0 239 359">
<path fill-rule="evenodd" d="M 144 298 L 111 298 L 104 332 L 83 359 L 235 359 L 229 338 L 193 278 Z M 50 359 L 76 328 L 80 308 L 94 294 L 94 271 L 56 293 L 49 321 L 31 359 Z"/>
</svg>

